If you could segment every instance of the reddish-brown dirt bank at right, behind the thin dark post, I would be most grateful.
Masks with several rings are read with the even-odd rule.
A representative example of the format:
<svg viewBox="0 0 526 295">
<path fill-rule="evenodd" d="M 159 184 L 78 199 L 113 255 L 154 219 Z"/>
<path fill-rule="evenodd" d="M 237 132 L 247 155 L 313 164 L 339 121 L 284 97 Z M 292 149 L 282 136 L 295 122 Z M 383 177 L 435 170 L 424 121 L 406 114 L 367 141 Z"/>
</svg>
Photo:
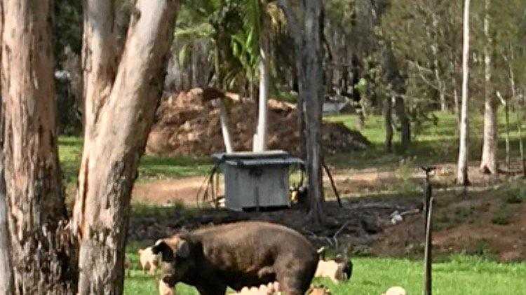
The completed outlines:
<svg viewBox="0 0 526 295">
<path fill-rule="evenodd" d="M 523 185 L 524 183 L 522 183 Z M 526 260 L 526 195 L 506 188 L 436 194 L 433 249 L 437 254 L 464 253 L 499 261 Z M 379 256 L 421 255 L 424 251 L 422 214 L 384 227 L 372 245 Z"/>
</svg>

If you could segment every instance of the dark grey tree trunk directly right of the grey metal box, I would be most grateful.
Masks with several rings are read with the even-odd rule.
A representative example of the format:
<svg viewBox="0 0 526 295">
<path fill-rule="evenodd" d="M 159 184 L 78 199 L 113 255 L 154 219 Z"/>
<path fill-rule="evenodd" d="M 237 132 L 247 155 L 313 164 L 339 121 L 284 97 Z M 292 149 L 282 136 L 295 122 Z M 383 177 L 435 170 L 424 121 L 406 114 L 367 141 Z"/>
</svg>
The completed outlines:
<svg viewBox="0 0 526 295">
<path fill-rule="evenodd" d="M 285 11 L 292 36 L 299 85 L 298 109 L 304 118 L 299 132 L 305 136 L 306 172 L 309 177 L 309 215 L 311 220 L 323 223 L 323 151 L 321 146 L 321 118 L 323 92 L 323 1 L 282 0 L 278 3 Z M 301 119 L 300 119 L 301 120 Z M 303 145 L 303 143 L 302 143 Z"/>
</svg>

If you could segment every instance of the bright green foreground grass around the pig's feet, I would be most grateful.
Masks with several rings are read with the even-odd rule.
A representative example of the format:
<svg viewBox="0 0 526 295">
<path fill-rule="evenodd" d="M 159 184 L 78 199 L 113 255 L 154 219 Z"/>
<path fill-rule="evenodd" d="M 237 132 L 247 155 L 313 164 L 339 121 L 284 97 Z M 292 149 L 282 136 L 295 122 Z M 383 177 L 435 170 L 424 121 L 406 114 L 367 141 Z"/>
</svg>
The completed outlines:
<svg viewBox="0 0 526 295">
<path fill-rule="evenodd" d="M 136 252 L 136 251 L 135 251 Z M 134 253 L 135 253 L 134 252 Z M 124 294 L 156 294 L 157 279 L 137 270 L 137 255 L 130 254 L 135 269 L 125 281 Z M 422 294 L 422 261 L 360 257 L 353 259 L 353 277 L 349 282 L 333 284 L 316 279 L 332 294 L 381 294 L 392 286 L 404 287 L 408 294 Z M 433 294 L 524 294 L 526 263 L 497 263 L 475 256 L 452 256 L 433 263 Z M 184 284 L 177 294 L 197 294 Z"/>
</svg>

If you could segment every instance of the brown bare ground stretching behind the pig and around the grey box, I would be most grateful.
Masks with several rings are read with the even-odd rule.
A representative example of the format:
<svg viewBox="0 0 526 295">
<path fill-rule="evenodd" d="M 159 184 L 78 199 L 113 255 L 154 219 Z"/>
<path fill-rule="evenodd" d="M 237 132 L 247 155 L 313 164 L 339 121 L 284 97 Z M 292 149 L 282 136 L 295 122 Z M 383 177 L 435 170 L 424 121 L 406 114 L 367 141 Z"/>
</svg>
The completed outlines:
<svg viewBox="0 0 526 295">
<path fill-rule="evenodd" d="M 432 177 L 436 252 L 479 254 L 501 261 L 526 260 L 526 191 L 521 189 L 525 182 L 513 181 L 513 177 L 505 175 L 490 178 L 477 172 L 476 167 L 471 170 L 473 186 L 466 192 L 453 185 L 450 165 L 440 166 Z M 313 226 L 299 207 L 250 213 L 197 209 L 196 194 L 204 177 L 139 183 L 133 191 L 135 203 L 168 207 L 156 207 L 151 212 L 150 207 L 136 205 L 130 238 L 154 242 L 181 228 L 250 219 L 285 224 L 304 233 L 318 246 L 349 246 L 354 254 L 420 256 L 424 240 L 423 217 L 419 212 L 422 177 L 422 172 L 404 165 L 391 172 L 336 170 L 335 180 L 344 195 L 344 207 L 337 206 L 326 184 L 327 222 L 320 227 Z M 396 211 L 408 214 L 393 225 L 391 217 Z"/>
</svg>

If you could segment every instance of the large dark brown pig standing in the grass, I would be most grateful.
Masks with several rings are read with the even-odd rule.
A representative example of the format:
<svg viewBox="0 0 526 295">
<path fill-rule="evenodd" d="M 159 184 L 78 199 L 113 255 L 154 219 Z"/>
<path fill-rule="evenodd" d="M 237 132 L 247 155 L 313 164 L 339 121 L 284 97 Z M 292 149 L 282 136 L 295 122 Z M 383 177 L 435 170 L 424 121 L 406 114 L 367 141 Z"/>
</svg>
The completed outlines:
<svg viewBox="0 0 526 295">
<path fill-rule="evenodd" d="M 303 235 L 267 222 L 210 226 L 158 240 L 163 280 L 184 282 L 203 295 L 223 295 L 278 281 L 281 291 L 303 295 L 316 272 L 318 254 Z"/>
</svg>

